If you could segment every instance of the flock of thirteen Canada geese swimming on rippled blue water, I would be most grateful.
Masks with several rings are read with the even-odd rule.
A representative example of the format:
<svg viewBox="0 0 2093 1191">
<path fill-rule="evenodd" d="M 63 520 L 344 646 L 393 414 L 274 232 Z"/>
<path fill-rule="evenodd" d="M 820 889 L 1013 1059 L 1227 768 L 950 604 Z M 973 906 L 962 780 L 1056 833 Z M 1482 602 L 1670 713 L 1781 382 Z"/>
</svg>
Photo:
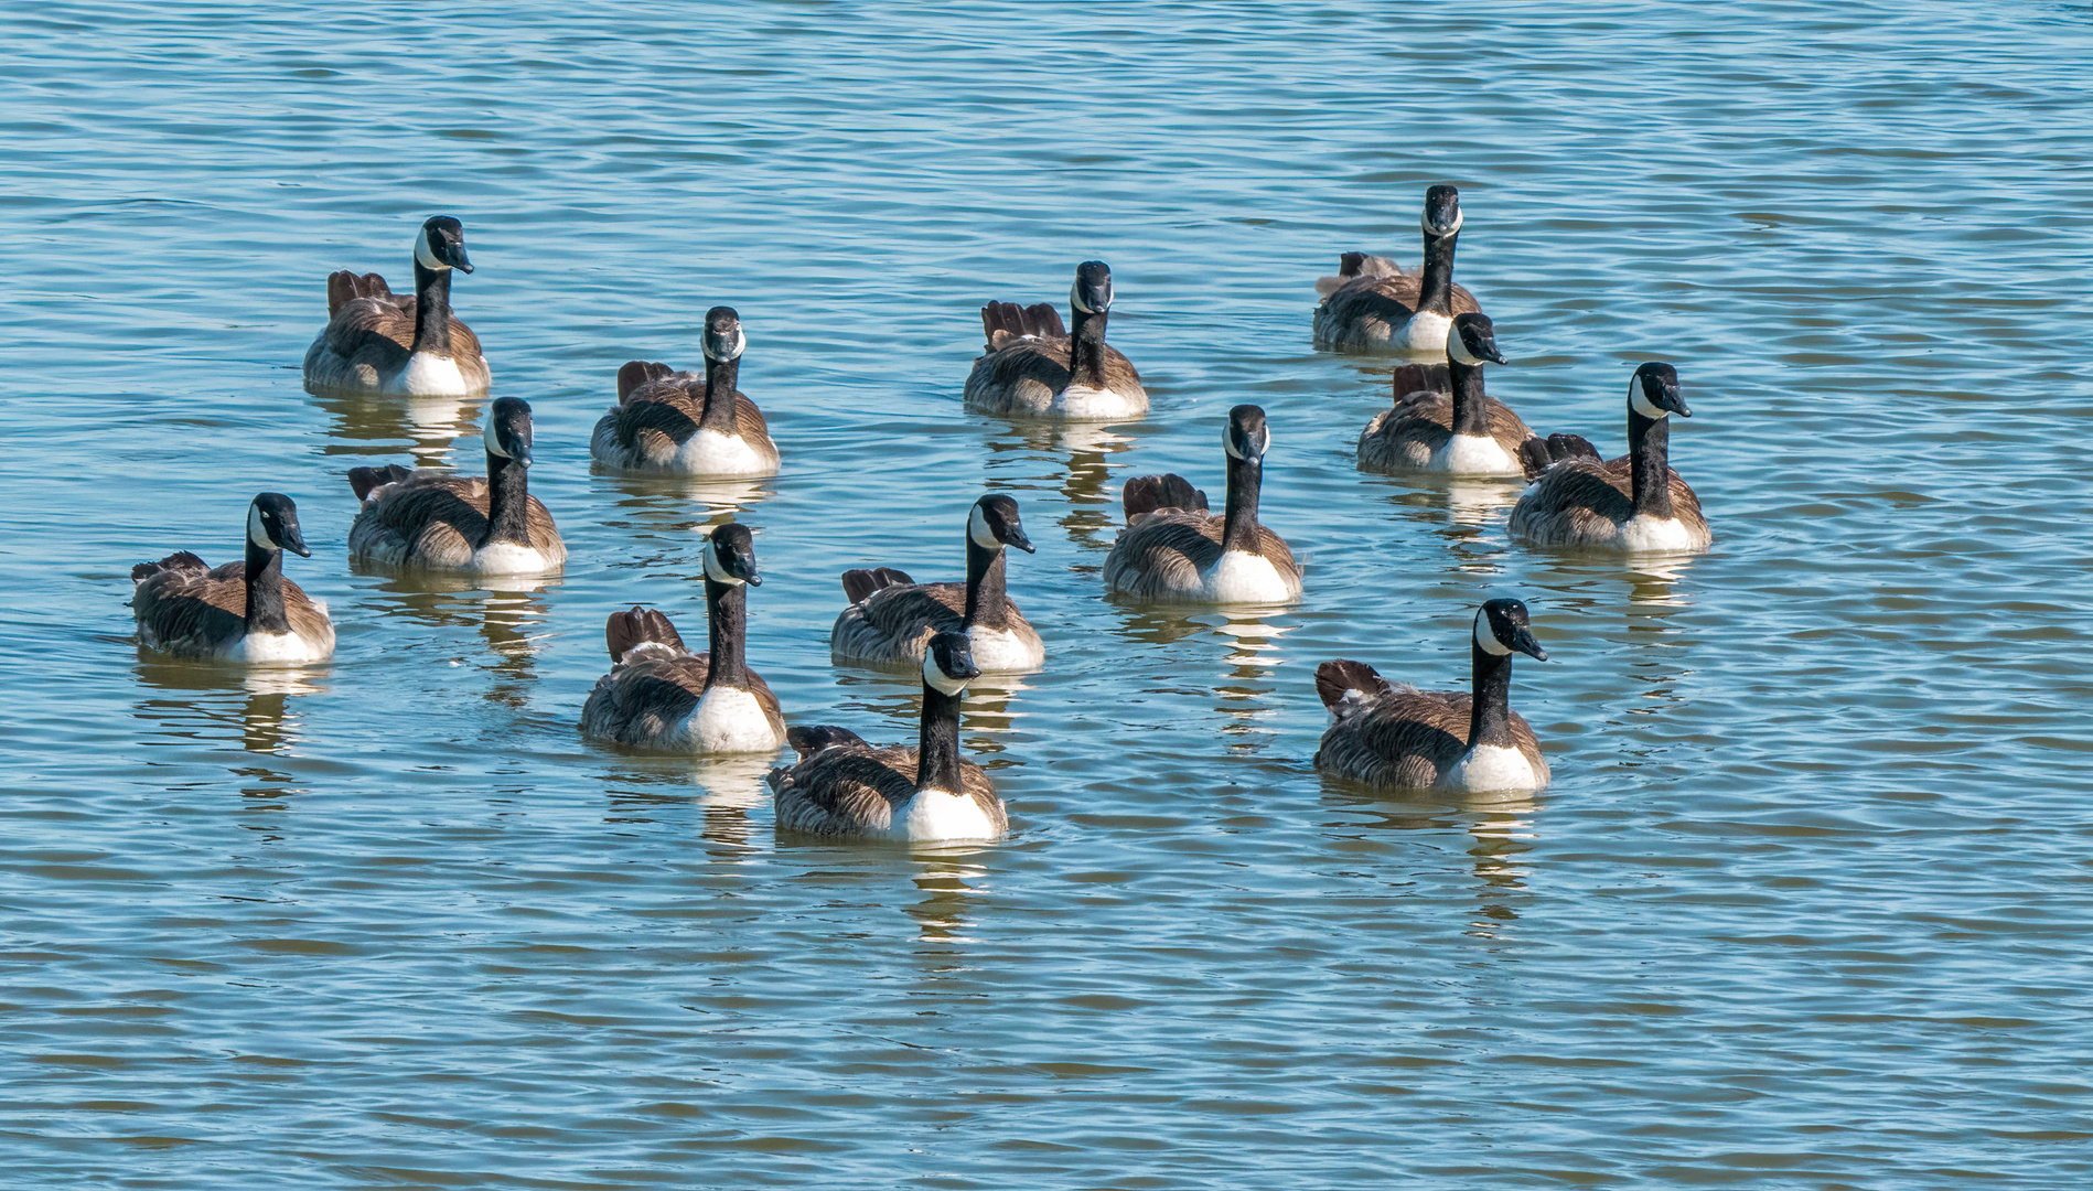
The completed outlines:
<svg viewBox="0 0 2093 1191">
<path fill-rule="evenodd" d="M 1670 467 L 1670 417 L 1691 417 L 1679 373 L 1645 362 L 1628 379 L 1628 452 L 1603 458 L 1574 433 L 1534 433 L 1484 391 L 1484 366 L 1503 364 L 1496 329 L 1476 295 L 1455 285 L 1463 226 L 1455 186 L 1425 190 L 1423 266 L 1346 251 L 1337 276 L 1316 283 L 1314 343 L 1406 356 L 1392 370 L 1392 406 L 1358 433 L 1358 467 L 1379 473 L 1524 477 L 1509 534 L 1532 546 L 1656 553 L 1710 544 L 1693 488 Z M 473 272 L 465 228 L 435 216 L 414 237 L 414 293 L 379 274 L 327 278 L 327 327 L 306 352 L 306 385 L 362 398 L 477 398 L 492 383 L 479 339 L 450 308 L 454 272 Z M 1132 421 L 1147 414 L 1141 373 L 1105 343 L 1111 270 L 1082 262 L 1070 285 L 1070 322 L 1051 304 L 990 301 L 984 350 L 965 404 L 1009 419 Z M 590 435 L 611 469 L 697 479 L 779 471 L 762 410 L 739 385 L 747 335 L 728 306 L 705 314 L 703 373 L 632 360 L 615 375 L 617 404 Z M 358 500 L 350 557 L 410 574 L 548 576 L 567 559 L 553 513 L 530 494 L 532 408 L 498 398 L 486 417 L 486 477 L 406 467 L 350 469 Z M 1258 521 L 1273 433 L 1264 410 L 1239 404 L 1222 427 L 1224 502 L 1183 475 L 1126 481 L 1126 525 L 1105 559 L 1120 599 L 1162 605 L 1285 605 L 1304 569 Z M 580 712 L 588 739 L 678 756 L 777 754 L 770 770 L 781 831 L 904 841 L 980 841 L 1009 829 L 982 766 L 961 756 L 959 714 L 982 674 L 1026 674 L 1046 647 L 1009 594 L 1009 550 L 1032 553 L 1017 500 L 992 492 L 965 515 L 963 582 L 915 582 L 894 567 L 841 576 L 846 607 L 829 647 L 839 664 L 917 670 L 919 739 L 875 747 L 850 728 L 787 726 L 777 695 L 749 666 L 747 599 L 762 584 L 747 525 L 728 521 L 703 544 L 705 651 L 693 653 L 657 609 L 605 622 L 611 670 Z M 327 607 L 285 578 L 285 550 L 310 557 L 297 504 L 262 492 L 247 513 L 245 557 L 209 567 L 174 553 L 132 569 L 142 649 L 197 661 L 301 666 L 335 649 Z M 1383 789 L 1534 791 L 1549 764 L 1532 726 L 1511 710 L 1511 659 L 1536 661 L 1517 599 L 1476 609 L 1467 691 L 1419 691 L 1373 666 L 1333 659 L 1314 689 L 1331 724 L 1319 770 Z"/>
</svg>

